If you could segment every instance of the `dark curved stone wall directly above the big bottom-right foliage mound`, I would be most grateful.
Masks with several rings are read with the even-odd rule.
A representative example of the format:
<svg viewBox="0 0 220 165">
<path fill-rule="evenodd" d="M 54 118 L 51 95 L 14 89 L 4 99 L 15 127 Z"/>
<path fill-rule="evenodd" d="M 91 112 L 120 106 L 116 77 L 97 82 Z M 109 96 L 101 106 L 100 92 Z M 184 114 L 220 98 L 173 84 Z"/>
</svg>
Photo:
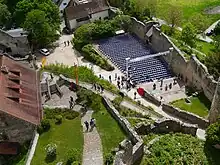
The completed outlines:
<svg viewBox="0 0 220 165">
<path fill-rule="evenodd" d="M 154 122 L 154 124 L 140 123 L 135 127 L 135 131 L 139 135 L 147 135 L 149 133 L 170 133 L 170 132 L 181 132 L 184 134 L 190 134 L 196 136 L 197 125 L 186 124 L 179 121 L 162 118 Z"/>
</svg>

